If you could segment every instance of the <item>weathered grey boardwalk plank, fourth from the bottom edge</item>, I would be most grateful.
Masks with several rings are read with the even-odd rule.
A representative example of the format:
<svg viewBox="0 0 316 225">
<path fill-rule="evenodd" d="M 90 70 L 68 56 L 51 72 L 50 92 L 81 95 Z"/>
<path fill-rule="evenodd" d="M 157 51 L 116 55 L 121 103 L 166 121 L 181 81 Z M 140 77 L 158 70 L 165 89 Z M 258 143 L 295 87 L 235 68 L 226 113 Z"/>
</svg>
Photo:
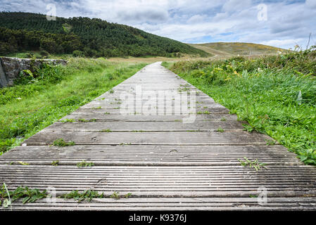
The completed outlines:
<svg viewBox="0 0 316 225">
<path fill-rule="evenodd" d="M 269 136 L 245 131 L 206 132 L 80 132 L 40 131 L 24 141 L 27 145 L 49 145 L 56 139 L 77 145 L 265 145 Z"/>
</svg>

